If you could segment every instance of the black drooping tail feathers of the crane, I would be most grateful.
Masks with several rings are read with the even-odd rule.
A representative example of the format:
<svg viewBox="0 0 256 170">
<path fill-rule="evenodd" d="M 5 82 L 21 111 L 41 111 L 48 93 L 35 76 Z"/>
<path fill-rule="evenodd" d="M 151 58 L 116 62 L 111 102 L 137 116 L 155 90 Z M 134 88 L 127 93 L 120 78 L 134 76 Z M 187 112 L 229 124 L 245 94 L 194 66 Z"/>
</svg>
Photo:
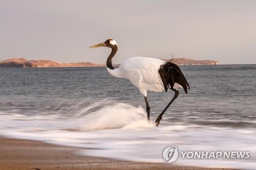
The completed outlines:
<svg viewBox="0 0 256 170">
<path fill-rule="evenodd" d="M 158 72 L 161 76 L 165 91 L 167 91 L 168 88 L 173 89 L 174 84 L 177 83 L 182 86 L 185 93 L 187 93 L 189 85 L 178 65 L 172 62 L 166 62 L 160 66 Z"/>
</svg>

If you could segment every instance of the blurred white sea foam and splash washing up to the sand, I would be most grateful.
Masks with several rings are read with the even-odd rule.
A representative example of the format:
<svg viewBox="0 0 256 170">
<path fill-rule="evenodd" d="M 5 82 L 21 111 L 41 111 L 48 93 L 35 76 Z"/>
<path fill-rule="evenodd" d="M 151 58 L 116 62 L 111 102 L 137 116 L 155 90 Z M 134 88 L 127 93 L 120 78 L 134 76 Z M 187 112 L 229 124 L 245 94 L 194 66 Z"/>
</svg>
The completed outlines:
<svg viewBox="0 0 256 170">
<path fill-rule="evenodd" d="M 105 104 L 103 107 L 102 104 Z M 95 109 L 100 107 L 98 110 Z M 90 112 L 90 110 L 94 110 Z M 80 148 L 78 154 L 131 161 L 163 163 L 162 150 L 177 145 L 182 151 L 250 151 L 249 160 L 178 159 L 176 164 L 255 169 L 255 129 L 232 129 L 163 120 L 147 123 L 142 107 L 99 102 L 67 115 L 0 113 L 0 135 Z M 95 150 L 94 150 L 95 149 Z"/>
</svg>

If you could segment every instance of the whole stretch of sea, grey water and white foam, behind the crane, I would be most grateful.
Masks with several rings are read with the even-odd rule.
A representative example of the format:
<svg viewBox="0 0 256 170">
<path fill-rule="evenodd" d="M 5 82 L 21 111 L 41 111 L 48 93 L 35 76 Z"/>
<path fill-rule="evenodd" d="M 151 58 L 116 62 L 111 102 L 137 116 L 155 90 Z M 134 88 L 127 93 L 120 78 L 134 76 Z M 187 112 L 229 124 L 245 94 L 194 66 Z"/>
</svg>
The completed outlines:
<svg viewBox="0 0 256 170">
<path fill-rule="evenodd" d="M 256 168 L 256 65 L 181 66 L 190 85 L 155 119 L 173 91 L 144 97 L 105 67 L 1 68 L 0 136 L 79 147 L 77 154 L 164 163 L 164 148 L 250 151 L 250 159 L 179 159 L 174 164 Z"/>
</svg>

